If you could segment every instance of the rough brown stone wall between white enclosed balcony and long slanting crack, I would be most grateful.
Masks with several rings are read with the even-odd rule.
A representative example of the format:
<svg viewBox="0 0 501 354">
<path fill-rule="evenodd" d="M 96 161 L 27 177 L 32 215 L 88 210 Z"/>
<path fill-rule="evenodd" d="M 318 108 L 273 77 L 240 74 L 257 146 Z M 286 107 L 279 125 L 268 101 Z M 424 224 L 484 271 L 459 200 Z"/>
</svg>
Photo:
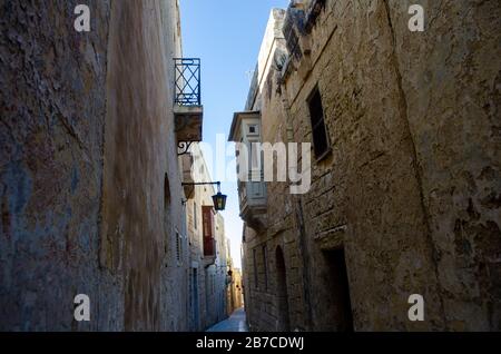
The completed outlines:
<svg viewBox="0 0 501 354">
<path fill-rule="evenodd" d="M 332 147 L 327 158 L 312 164 L 312 189 L 302 198 L 310 220 L 312 323 L 318 330 L 338 327 L 325 252 L 344 247 L 356 330 L 440 326 L 432 253 L 391 66 L 384 3 L 327 1 L 311 42 L 311 75 L 304 80 L 293 73 L 286 87 L 296 141 L 312 141 L 306 102 L 318 87 Z M 428 299 L 426 323 L 407 319 L 407 297 L 414 293 Z"/>
</svg>

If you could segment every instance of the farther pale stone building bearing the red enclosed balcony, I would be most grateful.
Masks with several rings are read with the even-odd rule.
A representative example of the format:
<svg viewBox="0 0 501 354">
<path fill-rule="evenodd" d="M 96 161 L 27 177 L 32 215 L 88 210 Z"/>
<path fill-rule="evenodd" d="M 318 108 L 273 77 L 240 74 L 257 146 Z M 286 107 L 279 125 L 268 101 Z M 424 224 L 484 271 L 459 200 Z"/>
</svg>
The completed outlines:
<svg viewBox="0 0 501 354">
<path fill-rule="evenodd" d="M 212 181 L 197 144 L 186 156 L 195 183 Z M 186 209 L 189 248 L 189 330 L 204 331 L 227 317 L 228 250 L 223 216 L 214 210 L 212 185 L 187 186 Z"/>
</svg>

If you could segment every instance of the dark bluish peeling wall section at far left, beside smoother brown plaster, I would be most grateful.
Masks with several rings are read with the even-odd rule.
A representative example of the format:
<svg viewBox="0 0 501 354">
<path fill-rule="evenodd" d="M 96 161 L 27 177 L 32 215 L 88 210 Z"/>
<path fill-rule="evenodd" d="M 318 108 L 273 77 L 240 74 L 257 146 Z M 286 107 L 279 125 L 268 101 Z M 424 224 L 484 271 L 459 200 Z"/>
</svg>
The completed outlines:
<svg viewBox="0 0 501 354">
<path fill-rule="evenodd" d="M 75 6 L 1 4 L 2 330 L 122 326 L 120 285 L 98 269 L 110 2 L 89 3 L 87 35 Z M 91 324 L 72 322 L 79 293 Z"/>
</svg>

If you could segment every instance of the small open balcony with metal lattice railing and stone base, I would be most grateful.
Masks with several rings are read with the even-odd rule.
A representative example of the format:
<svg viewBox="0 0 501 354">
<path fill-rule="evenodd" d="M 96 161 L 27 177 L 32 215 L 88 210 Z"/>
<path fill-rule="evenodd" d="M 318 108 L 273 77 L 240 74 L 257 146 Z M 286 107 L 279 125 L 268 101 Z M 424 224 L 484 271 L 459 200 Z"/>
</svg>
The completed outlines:
<svg viewBox="0 0 501 354">
<path fill-rule="evenodd" d="M 200 92 L 200 59 L 175 58 L 174 116 L 178 146 L 202 141 L 204 107 Z"/>
</svg>

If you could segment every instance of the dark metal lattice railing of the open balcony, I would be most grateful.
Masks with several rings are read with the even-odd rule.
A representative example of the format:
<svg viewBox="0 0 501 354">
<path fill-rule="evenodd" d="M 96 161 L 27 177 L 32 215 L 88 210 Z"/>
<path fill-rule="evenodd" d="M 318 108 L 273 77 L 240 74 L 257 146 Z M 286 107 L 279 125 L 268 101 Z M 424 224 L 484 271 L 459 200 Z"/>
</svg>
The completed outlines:
<svg viewBox="0 0 501 354">
<path fill-rule="evenodd" d="M 179 106 L 202 106 L 200 59 L 174 58 L 176 92 L 174 102 Z"/>
</svg>

